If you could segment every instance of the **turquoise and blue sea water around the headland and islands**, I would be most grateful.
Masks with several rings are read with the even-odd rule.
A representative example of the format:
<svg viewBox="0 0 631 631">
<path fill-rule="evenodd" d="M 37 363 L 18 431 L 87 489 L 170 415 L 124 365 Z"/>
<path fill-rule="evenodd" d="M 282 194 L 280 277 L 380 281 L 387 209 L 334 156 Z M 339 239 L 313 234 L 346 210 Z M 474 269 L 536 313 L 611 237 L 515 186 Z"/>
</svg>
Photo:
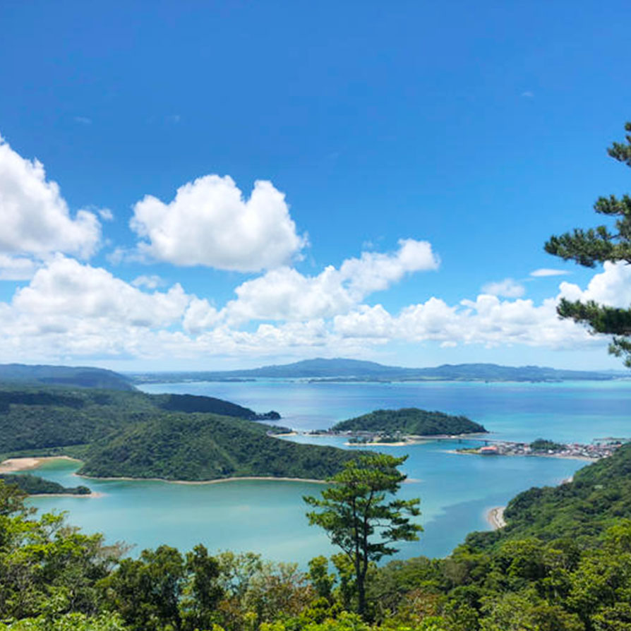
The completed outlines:
<svg viewBox="0 0 631 631">
<path fill-rule="evenodd" d="M 228 399 L 256 411 L 275 409 L 280 425 L 327 428 L 378 408 L 421 407 L 466 414 L 492 438 L 551 438 L 587 443 L 605 436 L 631 437 L 631 381 L 565 383 L 307 383 L 259 380 L 246 383 L 169 383 L 146 392 L 176 392 Z M 343 446 L 340 438 L 292 440 Z M 531 486 L 558 484 L 584 462 L 545 457 L 477 457 L 449 452 L 467 441 L 381 447 L 407 454 L 404 497 L 421 498 L 421 540 L 399 555 L 444 556 L 472 530 L 488 529 L 486 512 Z M 51 462 L 39 469 L 49 479 L 76 486 L 76 465 Z M 257 551 L 273 560 L 306 565 L 332 553 L 326 536 L 306 521 L 302 495 L 315 483 L 235 481 L 177 484 L 88 480 L 100 498 L 37 498 L 41 510 L 66 510 L 72 524 L 101 531 L 107 541 L 142 548 L 168 543 L 188 549 L 202 542 L 211 551 Z"/>
</svg>

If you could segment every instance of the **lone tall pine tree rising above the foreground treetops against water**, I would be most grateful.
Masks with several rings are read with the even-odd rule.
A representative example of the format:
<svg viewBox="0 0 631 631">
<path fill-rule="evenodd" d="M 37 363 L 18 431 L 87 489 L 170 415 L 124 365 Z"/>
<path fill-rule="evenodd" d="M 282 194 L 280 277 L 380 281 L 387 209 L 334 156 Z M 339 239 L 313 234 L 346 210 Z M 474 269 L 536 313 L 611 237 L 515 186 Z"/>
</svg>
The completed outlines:
<svg viewBox="0 0 631 631">
<path fill-rule="evenodd" d="M 420 515 L 418 498 L 386 500 L 407 477 L 397 468 L 405 459 L 407 456 L 361 455 L 329 479 L 331 484 L 320 498 L 304 498 L 317 509 L 307 513 L 309 523 L 325 529 L 333 545 L 351 562 L 360 615 L 366 612 L 369 564 L 397 552 L 392 543 L 416 541 L 423 530 L 409 521 Z"/>
</svg>

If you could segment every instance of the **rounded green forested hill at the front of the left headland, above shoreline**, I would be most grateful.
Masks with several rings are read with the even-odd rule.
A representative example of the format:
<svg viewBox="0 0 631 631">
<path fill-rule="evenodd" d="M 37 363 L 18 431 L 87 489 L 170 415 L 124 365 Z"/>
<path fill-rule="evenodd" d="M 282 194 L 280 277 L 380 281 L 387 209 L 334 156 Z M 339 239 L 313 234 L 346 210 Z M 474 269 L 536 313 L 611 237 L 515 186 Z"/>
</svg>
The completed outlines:
<svg viewBox="0 0 631 631">
<path fill-rule="evenodd" d="M 212 480 L 232 476 L 323 479 L 349 452 L 270 438 L 268 426 L 214 414 L 163 414 L 92 445 L 81 474 Z"/>
</svg>

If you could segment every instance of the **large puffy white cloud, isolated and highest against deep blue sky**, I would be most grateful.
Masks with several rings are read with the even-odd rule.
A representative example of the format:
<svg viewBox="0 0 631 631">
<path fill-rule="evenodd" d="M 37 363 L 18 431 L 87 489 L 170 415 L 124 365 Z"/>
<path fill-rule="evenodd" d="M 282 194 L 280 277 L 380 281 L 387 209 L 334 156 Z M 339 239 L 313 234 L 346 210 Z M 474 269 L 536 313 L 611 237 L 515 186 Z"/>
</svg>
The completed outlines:
<svg viewBox="0 0 631 631">
<path fill-rule="evenodd" d="M 175 265 L 257 272 L 287 263 L 306 246 L 284 193 L 268 181 L 256 181 L 246 200 L 229 176 L 207 175 L 178 188 L 169 203 L 145 196 L 133 213 L 140 251 Z"/>
</svg>

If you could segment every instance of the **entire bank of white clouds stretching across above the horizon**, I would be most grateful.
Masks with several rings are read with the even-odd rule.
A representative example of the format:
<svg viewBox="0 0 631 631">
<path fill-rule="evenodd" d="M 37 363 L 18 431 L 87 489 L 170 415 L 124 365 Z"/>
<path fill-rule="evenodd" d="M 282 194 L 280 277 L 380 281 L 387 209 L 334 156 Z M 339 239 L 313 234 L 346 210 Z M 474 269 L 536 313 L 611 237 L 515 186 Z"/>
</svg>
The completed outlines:
<svg viewBox="0 0 631 631">
<path fill-rule="evenodd" d="M 400 239 L 395 251 L 364 251 L 307 275 L 291 265 L 306 236 L 270 182 L 257 181 L 247 199 L 229 176 L 217 175 L 181 186 L 168 203 L 145 196 L 130 222 L 136 249 L 116 248 L 110 260 L 258 272 L 217 305 L 212 288 L 198 296 L 178 283 L 165 287 L 155 274 L 127 282 L 89 265 L 101 244 L 97 215 L 113 218 L 107 209 L 71 215 L 43 165 L 0 138 L 0 280 L 23 282 L 0 301 L 0 361 L 301 356 L 314 349 L 354 356 L 391 342 L 585 348 L 602 338 L 560 320 L 561 297 L 631 304 L 631 266 L 606 263 L 586 288 L 561 282 L 558 295 L 539 304 L 506 278 L 455 304 L 428 296 L 391 312 L 379 292 L 440 267 L 428 241 Z M 530 276 L 565 273 L 542 268 Z"/>
</svg>

